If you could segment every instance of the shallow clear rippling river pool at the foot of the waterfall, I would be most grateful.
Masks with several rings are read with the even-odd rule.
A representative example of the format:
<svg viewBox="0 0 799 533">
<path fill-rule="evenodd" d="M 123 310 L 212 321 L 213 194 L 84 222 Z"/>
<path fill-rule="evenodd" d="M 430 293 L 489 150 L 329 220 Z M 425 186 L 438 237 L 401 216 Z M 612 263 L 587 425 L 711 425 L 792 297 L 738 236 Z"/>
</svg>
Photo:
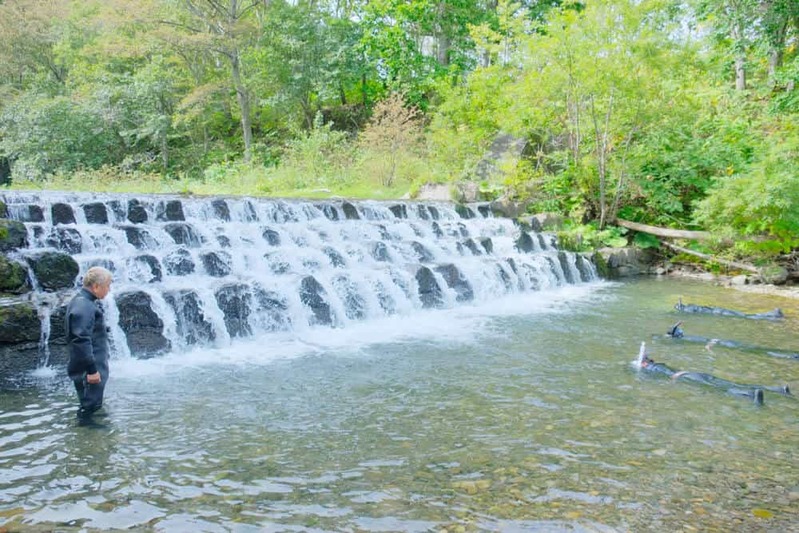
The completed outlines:
<svg viewBox="0 0 799 533">
<path fill-rule="evenodd" d="M 780 322 L 678 315 L 673 305 Z M 0 392 L 11 531 L 796 530 L 799 402 L 762 407 L 639 376 L 675 368 L 790 384 L 799 302 L 691 281 L 591 283 L 344 329 L 117 359 L 102 427 L 65 378 Z"/>
</svg>

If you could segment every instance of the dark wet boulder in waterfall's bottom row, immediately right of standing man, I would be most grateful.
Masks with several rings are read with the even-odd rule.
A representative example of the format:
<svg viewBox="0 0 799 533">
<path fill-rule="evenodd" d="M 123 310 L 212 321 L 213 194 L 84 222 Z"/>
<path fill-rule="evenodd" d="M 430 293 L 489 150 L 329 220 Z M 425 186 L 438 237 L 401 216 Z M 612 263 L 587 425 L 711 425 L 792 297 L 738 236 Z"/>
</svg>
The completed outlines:
<svg viewBox="0 0 799 533">
<path fill-rule="evenodd" d="M 164 337 L 164 322 L 153 311 L 149 294 L 125 292 L 118 294 L 115 300 L 119 309 L 119 327 L 125 333 L 131 355 L 146 358 L 170 349 L 171 344 Z"/>
</svg>

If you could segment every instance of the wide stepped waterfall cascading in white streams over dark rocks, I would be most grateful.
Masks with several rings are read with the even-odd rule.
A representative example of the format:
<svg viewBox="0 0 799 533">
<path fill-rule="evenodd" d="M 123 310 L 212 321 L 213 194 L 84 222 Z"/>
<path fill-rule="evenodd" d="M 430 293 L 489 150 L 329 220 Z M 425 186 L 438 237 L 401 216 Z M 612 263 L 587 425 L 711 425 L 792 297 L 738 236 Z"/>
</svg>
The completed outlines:
<svg viewBox="0 0 799 533">
<path fill-rule="evenodd" d="M 486 205 L 91 193 L 4 194 L 23 264 L 44 252 L 115 281 L 104 305 L 119 356 L 225 345 L 268 331 L 346 327 L 415 309 L 597 278 L 553 235 Z M 47 290 L 29 268 L 31 285 Z M 59 291 L 56 291 L 59 292 Z M 63 303 L 73 290 L 64 293 Z M 42 331 L 48 335 L 50 315 Z M 43 342 L 47 343 L 47 339 Z"/>
</svg>

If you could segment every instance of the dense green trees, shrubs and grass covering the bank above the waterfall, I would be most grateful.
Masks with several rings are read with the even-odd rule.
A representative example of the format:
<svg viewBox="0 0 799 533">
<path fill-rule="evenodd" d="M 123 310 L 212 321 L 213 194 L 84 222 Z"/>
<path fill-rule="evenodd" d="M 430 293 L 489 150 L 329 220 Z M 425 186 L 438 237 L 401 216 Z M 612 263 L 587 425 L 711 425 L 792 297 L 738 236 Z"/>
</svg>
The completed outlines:
<svg viewBox="0 0 799 533">
<path fill-rule="evenodd" d="M 3 0 L 0 157 L 17 187 L 399 197 L 477 185 L 507 133 L 482 194 L 590 223 L 577 248 L 618 216 L 768 255 L 799 245 L 797 39 L 794 0 Z"/>
</svg>

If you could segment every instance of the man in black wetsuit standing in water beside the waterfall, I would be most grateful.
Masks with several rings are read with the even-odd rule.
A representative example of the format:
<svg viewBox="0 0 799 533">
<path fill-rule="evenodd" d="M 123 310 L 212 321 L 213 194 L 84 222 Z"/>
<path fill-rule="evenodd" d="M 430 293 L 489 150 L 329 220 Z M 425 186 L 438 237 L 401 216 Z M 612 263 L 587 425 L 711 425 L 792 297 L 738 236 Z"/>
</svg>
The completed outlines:
<svg viewBox="0 0 799 533">
<path fill-rule="evenodd" d="M 67 306 L 67 374 L 78 392 L 81 419 L 91 417 L 103 406 L 108 381 L 108 331 L 99 300 L 108 295 L 112 280 L 105 268 L 90 268 L 83 276 L 83 288 Z"/>
</svg>

